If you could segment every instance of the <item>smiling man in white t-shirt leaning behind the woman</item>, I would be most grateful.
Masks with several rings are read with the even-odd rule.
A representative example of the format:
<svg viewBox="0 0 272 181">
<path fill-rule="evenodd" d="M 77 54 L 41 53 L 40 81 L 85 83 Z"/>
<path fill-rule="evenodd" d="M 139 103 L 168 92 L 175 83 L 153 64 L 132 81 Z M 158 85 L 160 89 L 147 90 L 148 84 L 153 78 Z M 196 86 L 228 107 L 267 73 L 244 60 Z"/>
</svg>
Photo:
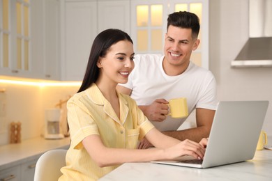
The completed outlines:
<svg viewBox="0 0 272 181">
<path fill-rule="evenodd" d="M 160 131 L 179 140 L 199 142 L 209 137 L 216 110 L 216 80 L 209 70 L 190 61 L 192 51 L 200 40 L 199 18 L 189 12 L 176 12 L 167 19 L 164 56 L 146 54 L 135 56 L 135 69 L 128 83 L 118 91 L 130 95 Z M 186 97 L 188 112 L 196 109 L 197 127 L 177 129 L 186 118 L 167 116 L 167 100 Z M 149 148 L 146 140 L 139 148 Z"/>
</svg>

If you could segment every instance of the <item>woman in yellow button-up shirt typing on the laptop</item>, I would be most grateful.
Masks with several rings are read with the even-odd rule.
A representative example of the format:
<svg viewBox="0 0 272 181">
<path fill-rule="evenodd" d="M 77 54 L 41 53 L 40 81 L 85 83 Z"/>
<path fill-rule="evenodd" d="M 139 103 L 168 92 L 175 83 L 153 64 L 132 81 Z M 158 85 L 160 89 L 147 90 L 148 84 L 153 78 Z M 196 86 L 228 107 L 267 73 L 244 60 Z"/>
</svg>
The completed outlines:
<svg viewBox="0 0 272 181">
<path fill-rule="evenodd" d="M 150 162 L 191 155 L 203 159 L 201 143 L 179 141 L 159 132 L 128 95 L 116 85 L 134 68 L 133 40 L 107 29 L 93 41 L 82 86 L 68 101 L 71 144 L 59 180 L 98 180 L 125 162 Z M 155 148 L 137 150 L 146 138 Z"/>
</svg>

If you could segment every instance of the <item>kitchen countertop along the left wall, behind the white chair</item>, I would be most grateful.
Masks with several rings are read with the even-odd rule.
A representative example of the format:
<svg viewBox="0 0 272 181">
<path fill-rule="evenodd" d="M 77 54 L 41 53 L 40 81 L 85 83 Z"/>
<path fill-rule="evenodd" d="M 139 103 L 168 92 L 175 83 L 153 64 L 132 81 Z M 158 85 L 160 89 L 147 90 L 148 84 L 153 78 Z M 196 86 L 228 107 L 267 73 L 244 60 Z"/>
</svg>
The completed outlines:
<svg viewBox="0 0 272 181">
<path fill-rule="evenodd" d="M 68 149 L 70 138 L 65 139 L 44 139 L 37 137 L 27 139 L 22 143 L 0 146 L 0 170 L 15 166 L 31 159 L 38 159 L 47 150 Z"/>
</svg>

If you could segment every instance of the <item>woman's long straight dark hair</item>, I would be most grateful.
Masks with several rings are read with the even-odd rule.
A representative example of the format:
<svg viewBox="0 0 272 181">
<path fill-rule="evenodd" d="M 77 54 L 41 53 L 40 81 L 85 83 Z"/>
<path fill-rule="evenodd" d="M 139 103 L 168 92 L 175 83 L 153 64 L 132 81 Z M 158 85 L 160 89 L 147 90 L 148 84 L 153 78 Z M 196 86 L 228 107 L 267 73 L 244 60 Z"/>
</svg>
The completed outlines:
<svg viewBox="0 0 272 181">
<path fill-rule="evenodd" d="M 82 85 L 77 93 L 80 93 L 91 86 L 99 76 L 99 68 L 96 65 L 99 57 L 104 57 L 107 54 L 109 47 L 121 40 L 128 40 L 133 43 L 128 33 L 119 29 L 106 29 L 96 36 L 93 40 L 93 46 L 91 47 L 91 53 L 87 64 L 86 72 Z"/>
</svg>

